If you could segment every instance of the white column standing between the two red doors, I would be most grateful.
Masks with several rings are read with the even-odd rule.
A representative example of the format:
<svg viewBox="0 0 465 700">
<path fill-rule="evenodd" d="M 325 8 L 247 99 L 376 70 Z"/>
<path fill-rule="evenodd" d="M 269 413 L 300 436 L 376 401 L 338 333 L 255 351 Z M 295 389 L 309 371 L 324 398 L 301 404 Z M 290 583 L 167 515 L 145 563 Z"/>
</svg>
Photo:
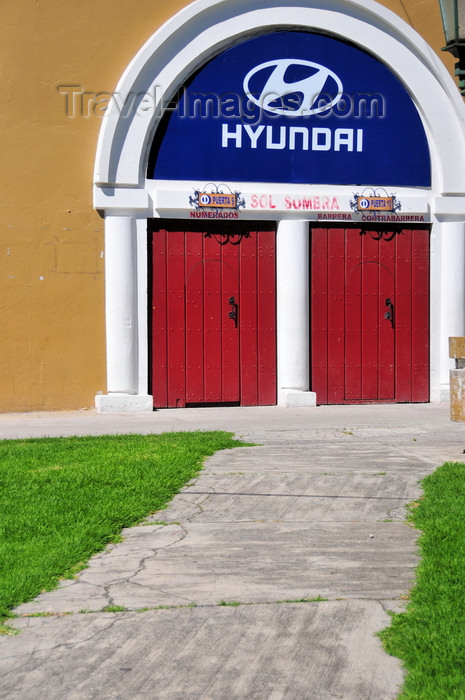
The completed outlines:
<svg viewBox="0 0 465 700">
<path fill-rule="evenodd" d="M 315 406 L 310 378 L 309 230 L 286 220 L 277 231 L 278 404 Z"/>
</svg>

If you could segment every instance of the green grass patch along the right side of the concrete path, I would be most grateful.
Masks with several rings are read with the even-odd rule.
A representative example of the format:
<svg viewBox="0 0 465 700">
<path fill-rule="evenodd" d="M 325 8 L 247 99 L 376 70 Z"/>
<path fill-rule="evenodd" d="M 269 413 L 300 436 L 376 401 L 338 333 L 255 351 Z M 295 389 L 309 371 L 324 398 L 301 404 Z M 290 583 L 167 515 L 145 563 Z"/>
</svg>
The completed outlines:
<svg viewBox="0 0 465 700">
<path fill-rule="evenodd" d="M 381 632 L 407 672 L 399 698 L 465 699 L 465 465 L 446 463 L 410 507 L 421 561 L 404 613 Z"/>
</svg>

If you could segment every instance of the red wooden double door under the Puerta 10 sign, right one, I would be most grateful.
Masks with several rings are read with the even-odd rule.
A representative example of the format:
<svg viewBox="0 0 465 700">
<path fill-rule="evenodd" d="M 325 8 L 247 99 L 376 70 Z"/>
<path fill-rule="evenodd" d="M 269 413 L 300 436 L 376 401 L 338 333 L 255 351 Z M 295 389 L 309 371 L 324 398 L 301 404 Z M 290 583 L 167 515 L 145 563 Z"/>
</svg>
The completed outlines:
<svg viewBox="0 0 465 700">
<path fill-rule="evenodd" d="M 313 229 L 312 390 L 320 404 L 429 400 L 429 230 Z"/>
</svg>

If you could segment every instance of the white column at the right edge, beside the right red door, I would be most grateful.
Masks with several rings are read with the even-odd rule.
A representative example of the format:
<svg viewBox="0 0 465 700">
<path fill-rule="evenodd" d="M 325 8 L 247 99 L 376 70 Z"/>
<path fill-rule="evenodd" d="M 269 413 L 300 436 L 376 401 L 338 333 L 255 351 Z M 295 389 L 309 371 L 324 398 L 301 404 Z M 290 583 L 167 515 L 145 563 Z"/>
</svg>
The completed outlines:
<svg viewBox="0 0 465 700">
<path fill-rule="evenodd" d="M 431 401 L 449 400 L 449 337 L 465 335 L 465 225 L 435 223 L 431 235 Z"/>
</svg>

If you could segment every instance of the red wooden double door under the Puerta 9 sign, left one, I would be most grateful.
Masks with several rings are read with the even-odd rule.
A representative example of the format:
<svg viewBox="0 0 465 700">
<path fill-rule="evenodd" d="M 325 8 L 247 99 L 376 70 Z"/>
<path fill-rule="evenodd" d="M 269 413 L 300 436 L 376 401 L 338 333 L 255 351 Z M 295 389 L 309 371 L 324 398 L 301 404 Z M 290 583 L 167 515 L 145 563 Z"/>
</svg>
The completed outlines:
<svg viewBox="0 0 465 700">
<path fill-rule="evenodd" d="M 276 403 L 274 225 L 151 227 L 154 406 Z"/>
</svg>

